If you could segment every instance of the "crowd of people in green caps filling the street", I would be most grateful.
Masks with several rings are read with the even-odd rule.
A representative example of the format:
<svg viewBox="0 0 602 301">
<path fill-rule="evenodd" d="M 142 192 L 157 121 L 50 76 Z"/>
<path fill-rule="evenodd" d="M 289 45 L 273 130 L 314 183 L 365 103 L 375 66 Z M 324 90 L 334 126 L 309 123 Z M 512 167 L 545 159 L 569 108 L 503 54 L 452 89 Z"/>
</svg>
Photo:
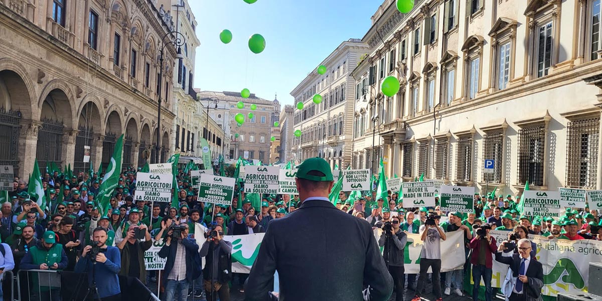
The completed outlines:
<svg viewBox="0 0 602 301">
<path fill-rule="evenodd" d="M 122 170 L 110 199 L 110 210 L 102 215 L 101 204 L 95 199 L 102 174 L 79 172 L 69 178 L 58 172 L 45 173 L 42 183 L 48 200 L 46 208 L 40 208 L 36 199 L 29 196 L 28 183 L 16 178 L 14 190 L 8 193 L 10 202 L 3 203 L 0 211 L 0 276 L 8 270 L 13 270 L 14 275 L 21 270 L 86 272 L 93 275 L 88 277 L 89 284 L 96 285 L 102 300 L 119 300 L 117 275 L 123 275 L 149 286 L 160 282 L 160 290 L 168 301 L 186 300 L 192 294 L 226 301 L 231 286 L 244 293 L 248 275 L 232 273 L 232 244 L 223 237 L 263 233 L 274 220 L 283 219 L 301 205 L 297 195 L 271 194 L 262 195 L 261 202 L 253 206 L 241 181 L 235 185 L 232 205 L 198 202 L 198 190 L 191 185 L 190 175 L 182 170 L 177 176 L 177 205 L 134 201 L 137 171 L 140 170 L 131 167 Z M 383 229 L 377 241 L 385 250 L 383 256 L 396 286 L 397 300 L 403 300 L 406 285 L 419 298 L 427 279 L 432 281 L 433 293 L 439 299 L 452 291 L 464 296 L 464 275 L 470 272 L 474 279 L 485 282 L 485 299 L 489 301 L 493 260 L 506 263 L 508 258 L 517 262 L 523 258 L 517 267 L 514 261 L 510 264 L 513 271 L 523 276 L 525 265 L 537 265 L 533 263 L 536 246 L 530 243 L 529 235 L 566 240 L 602 238 L 602 231 L 598 232 L 601 216 L 588 208 L 581 212 L 567 209 L 561 219 L 534 218 L 521 215 L 520 196 L 476 194 L 473 212 L 444 213 L 439 206 L 403 208 L 396 191 L 388 191 L 385 199 L 376 194 L 376 190 L 366 191 L 353 199 L 341 191 L 334 205 L 373 229 Z M 489 235 L 491 229 L 509 232 L 499 248 Z M 467 264 L 463 269 L 444 273 L 441 280 L 440 241 L 452 231 L 464 233 Z M 420 234 L 424 241 L 418 275 L 405 274 L 403 249 L 408 233 Z M 159 256 L 167 258 L 161 271 L 147 271 L 144 266 L 144 252 L 153 241 L 163 243 Z M 500 256 L 510 252 L 514 256 Z M 204 267 L 200 263 L 202 257 L 206 261 Z M 431 273 L 427 273 L 429 268 Z M 517 276 L 518 282 L 507 297 L 523 300 L 517 299 L 523 297 L 518 295 L 528 292 L 520 283 L 533 287 L 538 283 L 529 281 L 541 280 L 538 276 Z M 21 290 L 31 290 L 30 284 L 21 285 Z M 468 293 L 476 298 L 478 288 L 477 282 Z M 60 300 L 56 287 L 36 293 Z"/>
</svg>

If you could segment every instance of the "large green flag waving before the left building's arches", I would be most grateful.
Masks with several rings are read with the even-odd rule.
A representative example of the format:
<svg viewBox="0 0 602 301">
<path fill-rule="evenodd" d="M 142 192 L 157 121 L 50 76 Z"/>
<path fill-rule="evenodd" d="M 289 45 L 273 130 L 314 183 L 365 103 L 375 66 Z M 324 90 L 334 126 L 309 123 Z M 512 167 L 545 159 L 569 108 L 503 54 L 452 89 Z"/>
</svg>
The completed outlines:
<svg viewBox="0 0 602 301">
<path fill-rule="evenodd" d="M 113 149 L 113 156 L 107 167 L 107 173 L 102 178 L 102 184 L 96 193 L 96 202 L 100 204 L 100 214 L 105 216 L 111 209 L 111 196 L 113 191 L 117 187 L 119 182 L 119 175 L 121 173 L 121 163 L 123 157 L 123 134 L 119 136 Z M 99 168 L 100 170 L 100 168 Z M 100 174 L 100 172 L 99 172 Z"/>
</svg>

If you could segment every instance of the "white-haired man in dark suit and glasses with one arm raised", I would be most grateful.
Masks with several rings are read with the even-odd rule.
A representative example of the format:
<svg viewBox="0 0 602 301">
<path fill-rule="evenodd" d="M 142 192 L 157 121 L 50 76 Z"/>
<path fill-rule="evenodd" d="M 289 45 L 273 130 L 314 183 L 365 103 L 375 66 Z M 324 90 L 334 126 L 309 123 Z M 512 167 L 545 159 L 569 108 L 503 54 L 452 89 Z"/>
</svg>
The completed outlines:
<svg viewBox="0 0 602 301">
<path fill-rule="evenodd" d="M 530 255 L 531 241 L 523 238 L 518 240 L 517 246 L 518 254 L 512 256 L 502 256 L 501 252 L 506 249 L 504 243 L 500 244 L 495 253 L 495 260 L 510 265 L 512 276 L 516 278 L 516 284 L 508 299 L 510 301 L 537 299 L 543 286 L 544 269 L 541 262 Z"/>
</svg>

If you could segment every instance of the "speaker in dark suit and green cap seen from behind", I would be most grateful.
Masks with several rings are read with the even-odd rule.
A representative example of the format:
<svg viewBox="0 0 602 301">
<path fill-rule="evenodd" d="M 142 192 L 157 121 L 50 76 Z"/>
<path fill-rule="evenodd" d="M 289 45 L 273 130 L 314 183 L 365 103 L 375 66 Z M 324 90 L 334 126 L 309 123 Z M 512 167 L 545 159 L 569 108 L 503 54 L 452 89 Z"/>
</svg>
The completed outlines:
<svg viewBox="0 0 602 301">
<path fill-rule="evenodd" d="M 321 158 L 297 170 L 302 205 L 273 220 L 245 287 L 245 300 L 276 300 L 269 284 L 278 270 L 287 301 L 388 300 L 393 278 L 370 225 L 329 202 L 332 171 Z M 368 289 L 362 294 L 362 285 Z"/>
</svg>

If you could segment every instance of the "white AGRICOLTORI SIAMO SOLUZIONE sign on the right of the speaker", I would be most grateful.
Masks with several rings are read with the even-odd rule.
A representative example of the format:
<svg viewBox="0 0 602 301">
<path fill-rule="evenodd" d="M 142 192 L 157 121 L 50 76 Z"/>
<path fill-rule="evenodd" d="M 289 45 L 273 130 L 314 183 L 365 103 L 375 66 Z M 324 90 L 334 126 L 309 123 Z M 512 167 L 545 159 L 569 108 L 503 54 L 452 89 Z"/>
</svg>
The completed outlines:
<svg viewBox="0 0 602 301">
<path fill-rule="evenodd" d="M 523 193 L 525 216 L 560 217 L 560 192 L 526 190 Z"/>
</svg>

